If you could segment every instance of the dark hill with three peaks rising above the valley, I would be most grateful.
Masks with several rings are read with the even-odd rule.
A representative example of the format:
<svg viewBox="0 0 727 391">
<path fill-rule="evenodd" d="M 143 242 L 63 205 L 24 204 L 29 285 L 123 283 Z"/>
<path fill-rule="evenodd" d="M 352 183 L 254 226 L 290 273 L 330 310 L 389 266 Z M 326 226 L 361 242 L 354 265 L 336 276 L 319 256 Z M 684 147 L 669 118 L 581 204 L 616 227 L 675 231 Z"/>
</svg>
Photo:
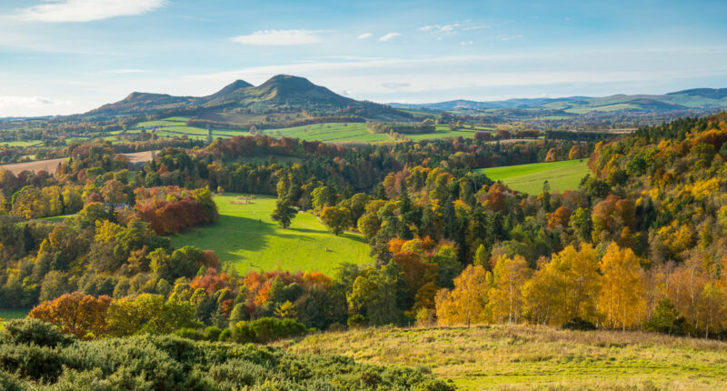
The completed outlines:
<svg viewBox="0 0 727 391">
<path fill-rule="evenodd" d="M 231 113 L 300 112 L 308 115 L 356 115 L 370 119 L 407 120 L 411 117 L 388 105 L 357 101 L 335 94 L 324 86 L 292 75 L 276 75 L 262 85 L 237 80 L 212 95 L 173 96 L 134 92 L 123 100 L 103 105 L 81 117 L 113 117 L 179 112 L 225 123 L 234 123 Z"/>
</svg>

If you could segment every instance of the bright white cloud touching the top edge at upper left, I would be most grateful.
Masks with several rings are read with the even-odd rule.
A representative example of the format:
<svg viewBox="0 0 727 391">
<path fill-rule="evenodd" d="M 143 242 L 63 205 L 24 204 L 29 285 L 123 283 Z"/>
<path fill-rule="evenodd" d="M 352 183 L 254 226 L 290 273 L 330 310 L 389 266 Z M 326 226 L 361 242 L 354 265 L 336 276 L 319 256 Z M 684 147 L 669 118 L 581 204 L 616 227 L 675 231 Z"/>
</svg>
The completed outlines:
<svg viewBox="0 0 727 391">
<path fill-rule="evenodd" d="M 17 19 L 32 22 L 90 22 L 115 16 L 142 15 L 166 0 L 44 0 L 45 4 L 19 9 Z"/>
</svg>

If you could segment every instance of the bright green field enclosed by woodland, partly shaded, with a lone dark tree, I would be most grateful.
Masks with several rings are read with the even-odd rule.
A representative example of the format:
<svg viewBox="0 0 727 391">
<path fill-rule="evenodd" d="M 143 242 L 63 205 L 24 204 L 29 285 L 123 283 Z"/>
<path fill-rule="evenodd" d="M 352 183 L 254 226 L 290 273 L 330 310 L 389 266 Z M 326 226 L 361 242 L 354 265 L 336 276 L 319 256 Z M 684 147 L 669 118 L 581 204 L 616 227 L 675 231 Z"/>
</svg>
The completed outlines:
<svg viewBox="0 0 727 391">
<path fill-rule="evenodd" d="M 272 196 L 257 195 L 247 205 L 230 203 L 239 201 L 238 195 L 217 195 L 214 200 L 220 219 L 212 226 L 173 236 L 174 247 L 214 250 L 221 262 L 233 262 L 241 273 L 280 266 L 332 275 L 336 266 L 346 262 L 372 262 L 363 236 L 334 236 L 312 214 L 298 213 L 290 228 L 279 228 L 270 218 L 275 206 Z"/>
</svg>

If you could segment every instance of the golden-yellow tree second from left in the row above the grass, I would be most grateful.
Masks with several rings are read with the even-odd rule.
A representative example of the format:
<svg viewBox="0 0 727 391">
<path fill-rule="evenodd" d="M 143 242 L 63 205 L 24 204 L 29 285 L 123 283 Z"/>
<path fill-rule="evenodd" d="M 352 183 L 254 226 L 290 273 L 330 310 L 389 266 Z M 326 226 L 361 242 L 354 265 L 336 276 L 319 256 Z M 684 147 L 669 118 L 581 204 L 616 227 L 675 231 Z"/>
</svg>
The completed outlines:
<svg viewBox="0 0 727 391">
<path fill-rule="evenodd" d="M 523 256 L 501 256 L 493 269 L 493 287 L 488 293 L 493 322 L 518 323 L 523 316 L 523 285 L 532 271 Z"/>
</svg>

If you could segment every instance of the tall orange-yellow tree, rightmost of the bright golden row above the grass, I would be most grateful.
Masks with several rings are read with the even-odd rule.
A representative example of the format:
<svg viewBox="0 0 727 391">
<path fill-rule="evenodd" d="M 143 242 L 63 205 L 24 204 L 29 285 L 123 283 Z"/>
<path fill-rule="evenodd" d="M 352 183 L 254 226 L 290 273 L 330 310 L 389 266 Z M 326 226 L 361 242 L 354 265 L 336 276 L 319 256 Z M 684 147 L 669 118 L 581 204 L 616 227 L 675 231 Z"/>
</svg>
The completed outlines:
<svg viewBox="0 0 727 391">
<path fill-rule="evenodd" d="M 617 328 L 635 326 L 644 313 L 644 286 L 639 257 L 631 248 L 612 242 L 601 259 L 599 308 L 603 325 Z"/>
</svg>

